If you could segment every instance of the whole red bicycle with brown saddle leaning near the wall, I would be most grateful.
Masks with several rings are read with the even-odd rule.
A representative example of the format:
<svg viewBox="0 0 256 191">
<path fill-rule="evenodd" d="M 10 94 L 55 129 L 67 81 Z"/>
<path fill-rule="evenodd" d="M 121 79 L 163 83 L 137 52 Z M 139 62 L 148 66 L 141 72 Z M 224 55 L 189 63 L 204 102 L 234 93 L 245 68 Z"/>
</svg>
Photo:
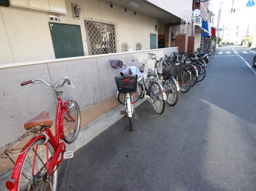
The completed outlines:
<svg viewBox="0 0 256 191">
<path fill-rule="evenodd" d="M 12 191 L 56 190 L 57 167 L 63 159 L 72 158 L 74 153 L 66 151 L 65 142 L 73 142 L 80 127 L 80 110 L 77 102 L 68 96 L 63 98 L 61 95 L 64 91 L 57 91 L 57 88 L 64 87 L 66 82 L 70 84 L 69 87 L 74 88 L 69 78 L 64 77 L 61 85 L 51 85 L 44 80 L 35 79 L 21 83 L 21 86 L 36 81 L 54 90 L 57 99 L 56 132 L 54 136 L 50 129 L 54 123 L 49 118 L 48 112 L 43 111 L 24 124 L 27 132 L 2 153 L 1 158 L 9 158 L 15 164 L 11 180 L 6 182 L 7 189 Z M 60 139 L 64 142 L 60 142 Z M 18 157 L 16 162 L 12 159 L 15 156 Z"/>
</svg>

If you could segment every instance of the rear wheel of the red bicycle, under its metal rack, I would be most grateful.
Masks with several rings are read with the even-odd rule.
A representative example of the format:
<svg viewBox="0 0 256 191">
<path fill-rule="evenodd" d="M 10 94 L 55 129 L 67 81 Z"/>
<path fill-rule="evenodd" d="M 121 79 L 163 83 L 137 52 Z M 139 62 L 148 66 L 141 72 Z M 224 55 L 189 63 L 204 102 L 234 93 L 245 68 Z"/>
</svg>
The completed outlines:
<svg viewBox="0 0 256 191">
<path fill-rule="evenodd" d="M 39 139 L 34 142 L 32 146 L 29 146 L 30 148 L 26 152 L 22 164 L 20 164 L 21 168 L 19 171 L 18 190 L 48 190 L 50 182 L 52 191 L 57 189 L 57 166 L 55 167 L 54 173 L 51 176 L 48 176 L 47 151 L 46 143 L 44 142 L 45 139 Z M 35 152 L 39 151 L 37 152 L 37 155 L 32 148 L 35 149 Z M 51 142 L 48 141 L 49 162 L 51 161 L 54 152 L 54 147 Z M 38 156 L 40 158 L 38 158 Z M 49 180 L 49 178 L 51 179 Z"/>
</svg>

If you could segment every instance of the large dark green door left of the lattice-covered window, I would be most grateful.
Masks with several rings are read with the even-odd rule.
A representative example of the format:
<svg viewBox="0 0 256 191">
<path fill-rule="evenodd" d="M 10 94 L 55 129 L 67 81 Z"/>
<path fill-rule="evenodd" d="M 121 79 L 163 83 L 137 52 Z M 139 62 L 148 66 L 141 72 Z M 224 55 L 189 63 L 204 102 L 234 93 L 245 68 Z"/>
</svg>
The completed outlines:
<svg viewBox="0 0 256 191">
<path fill-rule="evenodd" d="M 49 23 L 55 58 L 84 56 L 79 25 Z"/>
</svg>

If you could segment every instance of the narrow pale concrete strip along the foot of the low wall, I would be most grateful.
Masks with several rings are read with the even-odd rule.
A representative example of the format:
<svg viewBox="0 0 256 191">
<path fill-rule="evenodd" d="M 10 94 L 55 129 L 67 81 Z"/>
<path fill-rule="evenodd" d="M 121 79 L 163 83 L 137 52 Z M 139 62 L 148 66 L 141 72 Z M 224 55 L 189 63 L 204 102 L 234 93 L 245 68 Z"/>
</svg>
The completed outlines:
<svg viewBox="0 0 256 191">
<path fill-rule="evenodd" d="M 136 102 L 135 107 L 137 107 L 147 99 L 148 99 L 147 96 L 145 96 L 143 99 L 139 99 Z M 123 115 L 120 115 L 119 113 L 120 110 L 123 110 L 123 105 L 117 106 L 116 108 L 110 110 L 104 115 L 98 117 L 96 120 L 92 121 L 91 123 L 80 128 L 77 139 L 71 144 L 66 144 L 67 151 L 73 150 L 75 152 L 77 149 L 86 145 L 94 137 L 99 135 L 101 132 L 103 132 L 108 127 L 110 127 L 110 125 L 112 125 L 121 117 L 123 117 Z M 5 182 L 11 179 L 12 170 L 13 169 L 0 175 L 0 190 L 7 190 L 5 186 Z"/>
</svg>

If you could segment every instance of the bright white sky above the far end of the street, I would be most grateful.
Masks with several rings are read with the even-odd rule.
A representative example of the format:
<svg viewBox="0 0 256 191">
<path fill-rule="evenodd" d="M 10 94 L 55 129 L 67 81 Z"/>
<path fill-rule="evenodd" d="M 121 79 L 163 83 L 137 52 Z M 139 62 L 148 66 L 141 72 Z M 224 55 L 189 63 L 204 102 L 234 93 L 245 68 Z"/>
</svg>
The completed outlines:
<svg viewBox="0 0 256 191">
<path fill-rule="evenodd" d="M 255 5 L 246 7 L 248 1 L 254 1 Z M 225 25 L 225 28 L 228 27 L 230 29 L 238 25 L 240 27 L 247 27 L 248 23 L 256 23 L 256 0 L 211 0 L 211 2 L 216 18 L 218 18 L 220 2 L 222 2 L 219 28 L 222 28 L 223 25 Z M 235 9 L 235 12 L 231 13 L 231 9 Z"/>
</svg>

